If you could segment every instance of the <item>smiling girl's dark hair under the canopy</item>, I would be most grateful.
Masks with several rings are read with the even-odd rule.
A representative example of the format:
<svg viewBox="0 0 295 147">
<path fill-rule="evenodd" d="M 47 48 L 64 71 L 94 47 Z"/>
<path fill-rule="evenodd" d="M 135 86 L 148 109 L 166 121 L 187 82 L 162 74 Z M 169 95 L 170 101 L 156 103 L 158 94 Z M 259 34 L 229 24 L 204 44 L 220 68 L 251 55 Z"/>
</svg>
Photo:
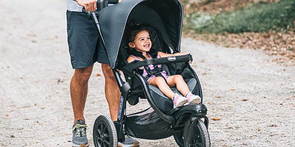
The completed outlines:
<svg viewBox="0 0 295 147">
<path fill-rule="evenodd" d="M 131 21 L 127 26 L 126 39 L 129 42 L 134 42 L 135 36 L 141 31 L 148 31 L 148 29 L 135 21 Z"/>
</svg>

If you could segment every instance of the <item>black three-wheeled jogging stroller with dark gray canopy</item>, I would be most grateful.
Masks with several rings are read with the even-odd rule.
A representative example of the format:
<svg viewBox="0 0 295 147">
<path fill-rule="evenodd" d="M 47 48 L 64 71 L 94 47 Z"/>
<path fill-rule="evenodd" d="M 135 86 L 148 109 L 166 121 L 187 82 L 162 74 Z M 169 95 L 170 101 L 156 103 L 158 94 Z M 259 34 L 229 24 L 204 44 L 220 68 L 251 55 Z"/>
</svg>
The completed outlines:
<svg viewBox="0 0 295 147">
<path fill-rule="evenodd" d="M 118 0 L 109 1 L 116 3 Z M 207 131 L 207 108 L 203 102 L 202 89 L 197 74 L 190 67 L 190 54 L 154 58 L 127 64 L 127 41 L 125 27 L 131 20 L 148 27 L 154 51 L 180 52 L 183 8 L 179 0 L 124 0 L 109 5 L 107 0 L 98 0 L 98 10 L 83 10 L 92 19 L 99 33 L 102 46 L 107 52 L 121 92 L 118 120 L 113 122 L 105 115 L 98 116 L 93 126 L 95 147 L 117 147 L 124 135 L 142 139 L 163 139 L 174 136 L 180 147 L 210 147 Z M 138 68 L 154 64 L 162 65 L 168 74 L 180 74 L 190 91 L 199 95 L 200 104 L 173 108 L 173 101 L 152 85 L 138 72 Z M 121 75 L 119 71 L 122 71 Z M 172 88 L 175 93 L 177 89 Z M 180 94 L 180 93 L 179 93 Z M 136 105 L 139 98 L 147 98 L 154 110 L 127 115 L 126 103 Z"/>
</svg>

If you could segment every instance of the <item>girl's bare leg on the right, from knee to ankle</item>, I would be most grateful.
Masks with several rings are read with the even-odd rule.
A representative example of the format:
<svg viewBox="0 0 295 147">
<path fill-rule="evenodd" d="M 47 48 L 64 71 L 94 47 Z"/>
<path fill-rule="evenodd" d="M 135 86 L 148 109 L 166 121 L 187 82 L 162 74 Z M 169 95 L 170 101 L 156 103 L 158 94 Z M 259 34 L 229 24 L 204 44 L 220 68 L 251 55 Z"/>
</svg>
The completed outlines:
<svg viewBox="0 0 295 147">
<path fill-rule="evenodd" d="M 184 82 L 183 77 L 181 75 L 171 75 L 167 77 L 167 83 L 170 87 L 175 87 L 177 90 L 185 96 L 189 93 L 189 89 L 187 84 Z"/>
</svg>

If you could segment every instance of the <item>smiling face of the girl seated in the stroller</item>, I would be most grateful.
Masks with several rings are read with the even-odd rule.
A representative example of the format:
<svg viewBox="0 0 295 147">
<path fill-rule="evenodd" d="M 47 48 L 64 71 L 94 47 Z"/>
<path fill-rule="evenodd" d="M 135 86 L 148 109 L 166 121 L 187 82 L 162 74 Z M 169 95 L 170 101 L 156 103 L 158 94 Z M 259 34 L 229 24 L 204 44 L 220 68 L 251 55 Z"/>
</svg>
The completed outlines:
<svg viewBox="0 0 295 147">
<path fill-rule="evenodd" d="M 133 42 L 129 42 L 128 45 L 130 48 L 134 48 L 137 51 L 149 51 L 149 49 L 151 48 L 151 41 L 149 38 L 148 31 L 144 30 L 139 32 L 135 36 L 135 40 Z"/>
</svg>

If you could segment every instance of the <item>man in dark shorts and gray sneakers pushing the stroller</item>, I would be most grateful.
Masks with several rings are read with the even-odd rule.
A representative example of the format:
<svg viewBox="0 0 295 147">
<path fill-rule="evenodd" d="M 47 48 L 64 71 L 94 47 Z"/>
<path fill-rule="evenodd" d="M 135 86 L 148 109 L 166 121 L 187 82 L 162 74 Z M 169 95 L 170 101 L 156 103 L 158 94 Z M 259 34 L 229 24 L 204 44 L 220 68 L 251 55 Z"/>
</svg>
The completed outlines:
<svg viewBox="0 0 295 147">
<path fill-rule="evenodd" d="M 122 0 L 119 0 L 120 2 Z M 105 76 L 105 95 L 113 121 L 117 121 L 120 92 L 117 81 L 109 66 L 106 53 L 98 41 L 98 32 L 91 20 L 87 20 L 82 8 L 95 11 L 96 0 L 67 0 L 67 35 L 71 56 L 71 64 L 75 73 L 71 80 L 70 91 L 74 111 L 73 147 L 88 147 L 85 118 L 83 115 L 88 81 L 92 73 L 93 64 L 101 63 Z M 139 147 L 139 142 L 126 137 L 118 147 Z"/>
</svg>

